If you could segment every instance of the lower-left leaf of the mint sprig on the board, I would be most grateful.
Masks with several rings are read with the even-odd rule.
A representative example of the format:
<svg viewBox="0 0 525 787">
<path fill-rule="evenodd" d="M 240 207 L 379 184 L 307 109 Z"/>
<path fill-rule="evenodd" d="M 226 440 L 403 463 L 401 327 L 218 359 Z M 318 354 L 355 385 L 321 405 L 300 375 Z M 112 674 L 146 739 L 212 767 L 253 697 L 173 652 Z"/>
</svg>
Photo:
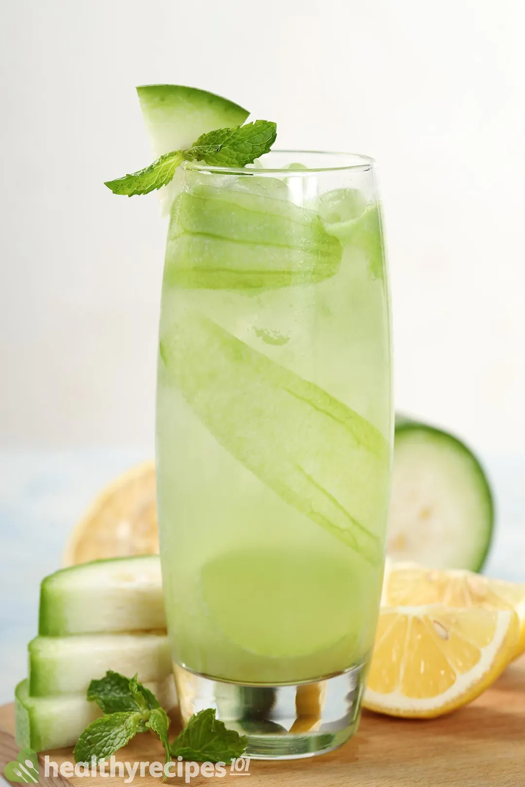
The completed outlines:
<svg viewBox="0 0 525 787">
<path fill-rule="evenodd" d="M 153 711 L 152 711 L 153 712 Z M 96 757 L 99 763 L 125 746 L 139 731 L 140 713 L 121 711 L 95 719 L 76 741 L 74 756 L 77 763 L 87 763 Z"/>
</svg>

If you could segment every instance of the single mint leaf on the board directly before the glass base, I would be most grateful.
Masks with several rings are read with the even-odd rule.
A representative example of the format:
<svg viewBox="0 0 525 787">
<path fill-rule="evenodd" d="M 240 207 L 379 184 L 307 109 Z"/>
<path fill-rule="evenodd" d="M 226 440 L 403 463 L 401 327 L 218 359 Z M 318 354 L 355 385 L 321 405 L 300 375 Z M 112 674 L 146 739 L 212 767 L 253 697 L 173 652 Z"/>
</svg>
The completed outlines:
<svg viewBox="0 0 525 787">
<path fill-rule="evenodd" d="M 184 730 L 169 747 L 173 758 L 195 760 L 198 763 L 229 763 L 240 757 L 248 739 L 235 730 L 227 730 L 215 718 L 215 710 L 206 708 L 191 717 Z"/>
</svg>

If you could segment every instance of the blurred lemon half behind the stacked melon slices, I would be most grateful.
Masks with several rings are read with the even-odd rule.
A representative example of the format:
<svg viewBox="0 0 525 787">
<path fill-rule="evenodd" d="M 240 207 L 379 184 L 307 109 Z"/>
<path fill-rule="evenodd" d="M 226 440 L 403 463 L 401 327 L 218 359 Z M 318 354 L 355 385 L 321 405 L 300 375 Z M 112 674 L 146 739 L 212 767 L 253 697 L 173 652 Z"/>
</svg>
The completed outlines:
<svg viewBox="0 0 525 787">
<path fill-rule="evenodd" d="M 132 467 L 109 484 L 76 525 L 64 563 L 158 552 L 155 466 Z"/>
</svg>

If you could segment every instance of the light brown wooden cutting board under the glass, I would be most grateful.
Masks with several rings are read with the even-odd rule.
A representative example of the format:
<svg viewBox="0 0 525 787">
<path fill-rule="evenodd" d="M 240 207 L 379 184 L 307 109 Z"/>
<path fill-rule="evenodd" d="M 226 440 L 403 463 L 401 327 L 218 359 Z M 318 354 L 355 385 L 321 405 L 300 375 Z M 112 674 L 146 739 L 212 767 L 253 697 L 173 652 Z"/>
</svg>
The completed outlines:
<svg viewBox="0 0 525 787">
<path fill-rule="evenodd" d="M 13 705 L 0 708 L 0 774 L 15 759 Z M 52 752 L 55 762 L 72 760 L 70 749 Z M 116 759 L 162 760 L 153 736 L 139 735 Z M 43 763 L 43 756 L 41 756 Z M 43 765 L 40 767 L 43 774 Z M 330 754 L 288 762 L 252 759 L 250 787 L 525 787 L 525 656 L 514 663 L 478 700 L 441 719 L 407 721 L 364 712 L 352 741 Z M 246 774 L 245 774 L 246 775 Z M 238 782 L 192 778 L 191 785 Z M 40 777 L 41 785 L 124 784 L 124 778 Z M 173 778 L 172 785 L 184 785 Z M 135 776 L 132 785 L 161 787 L 162 781 Z"/>
</svg>

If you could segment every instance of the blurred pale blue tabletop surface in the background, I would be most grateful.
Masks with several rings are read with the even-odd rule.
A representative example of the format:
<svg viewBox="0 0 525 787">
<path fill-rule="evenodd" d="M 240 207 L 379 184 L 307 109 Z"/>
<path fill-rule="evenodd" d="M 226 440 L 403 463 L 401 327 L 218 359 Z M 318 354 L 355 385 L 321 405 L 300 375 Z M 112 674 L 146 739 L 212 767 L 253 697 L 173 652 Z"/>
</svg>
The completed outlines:
<svg viewBox="0 0 525 787">
<path fill-rule="evenodd" d="M 0 451 L 0 704 L 26 677 L 40 580 L 60 567 L 69 530 L 115 475 L 148 458 L 140 449 Z M 525 455 L 488 456 L 497 534 L 486 573 L 525 582 Z"/>
</svg>

